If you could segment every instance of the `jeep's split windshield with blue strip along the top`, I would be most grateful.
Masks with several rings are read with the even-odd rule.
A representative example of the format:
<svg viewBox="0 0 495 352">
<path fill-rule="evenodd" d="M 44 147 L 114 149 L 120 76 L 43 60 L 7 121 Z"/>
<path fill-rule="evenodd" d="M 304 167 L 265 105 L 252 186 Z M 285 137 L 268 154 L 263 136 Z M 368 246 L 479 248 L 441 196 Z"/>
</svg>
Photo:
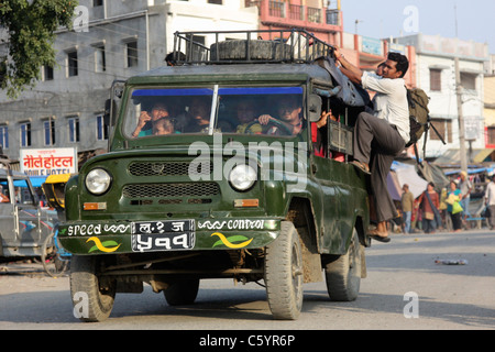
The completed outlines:
<svg viewBox="0 0 495 352">
<path fill-rule="evenodd" d="M 134 88 L 124 133 L 130 139 L 179 134 L 290 136 L 304 128 L 301 87 Z"/>
</svg>

